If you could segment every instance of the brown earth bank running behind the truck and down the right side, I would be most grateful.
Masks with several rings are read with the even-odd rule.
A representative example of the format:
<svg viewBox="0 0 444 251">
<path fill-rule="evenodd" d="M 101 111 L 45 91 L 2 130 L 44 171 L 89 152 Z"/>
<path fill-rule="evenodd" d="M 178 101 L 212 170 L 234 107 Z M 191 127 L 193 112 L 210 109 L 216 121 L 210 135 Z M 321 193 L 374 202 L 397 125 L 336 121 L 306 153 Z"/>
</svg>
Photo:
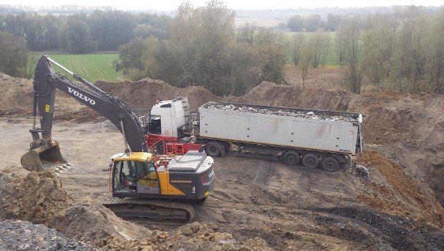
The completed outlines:
<svg viewBox="0 0 444 251">
<path fill-rule="evenodd" d="M 0 114 L 30 113 L 31 80 L 17 79 L 1 73 Z M 353 95 L 345 91 L 302 90 L 262 82 L 241 97 L 216 97 L 200 86 L 179 89 L 160 80 L 96 86 L 128 103 L 139 115 L 145 115 L 156 100 L 185 96 L 191 109 L 208 101 L 292 106 L 299 108 L 352 111 L 368 115 L 364 119 L 366 145 L 377 147 L 382 156 L 406 167 L 420 184 L 428 184 L 436 198 L 444 203 L 444 97 L 402 95 L 393 91 Z M 101 119 L 101 115 L 64 93 L 56 100 L 55 120 L 78 122 Z"/>
</svg>

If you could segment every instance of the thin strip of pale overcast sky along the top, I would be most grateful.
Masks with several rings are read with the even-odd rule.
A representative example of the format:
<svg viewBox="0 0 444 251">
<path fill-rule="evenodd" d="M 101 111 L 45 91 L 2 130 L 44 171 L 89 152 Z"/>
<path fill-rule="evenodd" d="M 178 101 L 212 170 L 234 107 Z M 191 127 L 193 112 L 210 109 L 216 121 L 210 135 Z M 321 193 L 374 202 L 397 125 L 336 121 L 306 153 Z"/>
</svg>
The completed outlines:
<svg viewBox="0 0 444 251">
<path fill-rule="evenodd" d="M 174 10 L 178 8 L 183 0 L 0 0 L 0 4 L 29 5 L 29 6 L 112 6 L 119 10 Z M 194 7 L 205 6 L 207 0 L 189 1 Z M 225 0 L 225 6 L 230 9 L 282 9 L 282 8 L 316 8 L 316 7 L 368 7 L 368 6 L 395 6 L 395 5 L 416 5 L 416 6 L 443 6 L 443 0 L 373 0 L 373 1 L 346 1 L 346 0 L 268 0 L 268 1 L 242 1 Z"/>
</svg>

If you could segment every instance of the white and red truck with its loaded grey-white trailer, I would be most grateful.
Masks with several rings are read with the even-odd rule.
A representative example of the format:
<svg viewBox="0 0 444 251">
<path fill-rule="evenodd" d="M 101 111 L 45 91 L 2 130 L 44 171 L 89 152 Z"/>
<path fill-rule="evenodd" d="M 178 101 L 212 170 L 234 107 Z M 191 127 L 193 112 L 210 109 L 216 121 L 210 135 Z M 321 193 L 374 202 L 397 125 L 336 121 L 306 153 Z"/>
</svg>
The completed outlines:
<svg viewBox="0 0 444 251">
<path fill-rule="evenodd" d="M 205 147 L 208 156 L 274 156 L 287 165 L 338 171 L 350 156 L 363 153 L 363 115 L 233 102 L 207 102 L 191 113 L 187 97 L 155 104 L 146 127 L 148 147 L 187 152 Z"/>
</svg>

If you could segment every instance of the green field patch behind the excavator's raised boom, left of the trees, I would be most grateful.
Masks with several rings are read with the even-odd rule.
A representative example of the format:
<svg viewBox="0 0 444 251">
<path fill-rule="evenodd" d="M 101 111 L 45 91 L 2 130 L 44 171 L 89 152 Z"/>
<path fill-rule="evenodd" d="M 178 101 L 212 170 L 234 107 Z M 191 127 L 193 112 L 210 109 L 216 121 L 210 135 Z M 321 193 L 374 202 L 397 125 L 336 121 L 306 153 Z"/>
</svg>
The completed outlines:
<svg viewBox="0 0 444 251">
<path fill-rule="evenodd" d="M 119 54 L 48 54 L 48 56 L 72 73 L 77 73 L 83 77 L 83 79 L 93 84 L 99 80 L 112 83 L 123 81 L 121 73 L 117 73 L 114 71 L 114 68 L 112 68 L 112 62 L 115 59 L 119 59 Z M 33 57 L 33 64 L 37 63 L 40 57 L 42 57 L 42 55 L 35 55 Z M 52 66 L 56 72 L 69 76 L 69 73 L 63 71 L 55 64 L 52 64 Z M 35 68 L 35 66 L 33 66 L 33 68 Z"/>
</svg>

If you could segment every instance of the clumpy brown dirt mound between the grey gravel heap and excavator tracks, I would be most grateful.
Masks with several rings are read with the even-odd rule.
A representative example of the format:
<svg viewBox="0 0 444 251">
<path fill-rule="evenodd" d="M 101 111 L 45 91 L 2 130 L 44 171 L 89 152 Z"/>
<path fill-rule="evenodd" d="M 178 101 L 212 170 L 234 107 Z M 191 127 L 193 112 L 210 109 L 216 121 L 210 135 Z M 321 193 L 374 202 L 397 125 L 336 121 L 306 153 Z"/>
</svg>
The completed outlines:
<svg viewBox="0 0 444 251">
<path fill-rule="evenodd" d="M 103 205 L 78 205 L 62 188 L 53 170 L 30 172 L 25 178 L 0 174 L 0 217 L 42 223 L 70 238 L 95 246 L 113 236 L 124 241 L 141 238 L 151 231 L 123 221 Z"/>
</svg>

